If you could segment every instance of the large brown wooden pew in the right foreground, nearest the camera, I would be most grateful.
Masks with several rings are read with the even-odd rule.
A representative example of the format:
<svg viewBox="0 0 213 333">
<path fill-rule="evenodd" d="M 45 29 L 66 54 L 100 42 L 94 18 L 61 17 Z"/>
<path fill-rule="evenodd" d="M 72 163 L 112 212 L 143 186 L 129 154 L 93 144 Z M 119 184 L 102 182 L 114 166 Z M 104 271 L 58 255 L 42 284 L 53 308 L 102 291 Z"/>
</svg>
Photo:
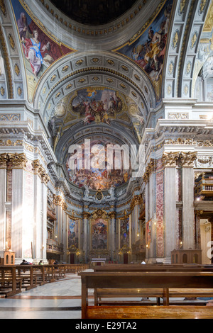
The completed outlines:
<svg viewBox="0 0 213 333">
<path fill-rule="evenodd" d="M 89 317 L 88 289 L 163 289 L 164 305 L 169 305 L 169 290 L 181 288 L 213 289 L 212 272 L 81 272 L 82 278 L 82 319 Z M 96 307 L 102 313 L 102 306 Z M 94 310 L 92 307 L 92 310 Z M 114 306 L 111 306 L 114 309 Z M 99 317 L 97 317 L 98 319 Z M 107 317 L 106 317 L 107 318 Z"/>
</svg>

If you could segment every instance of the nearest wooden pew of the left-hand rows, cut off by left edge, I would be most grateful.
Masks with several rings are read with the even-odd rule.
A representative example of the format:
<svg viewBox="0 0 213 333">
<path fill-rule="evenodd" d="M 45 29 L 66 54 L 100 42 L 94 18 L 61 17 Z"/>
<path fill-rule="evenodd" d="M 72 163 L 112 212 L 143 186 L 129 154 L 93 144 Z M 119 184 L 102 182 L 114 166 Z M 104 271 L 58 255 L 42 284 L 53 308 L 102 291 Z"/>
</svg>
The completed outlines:
<svg viewBox="0 0 213 333">
<path fill-rule="evenodd" d="M 5 297 L 21 293 L 23 278 L 16 276 L 16 266 L 0 266 L 0 294 Z"/>
</svg>

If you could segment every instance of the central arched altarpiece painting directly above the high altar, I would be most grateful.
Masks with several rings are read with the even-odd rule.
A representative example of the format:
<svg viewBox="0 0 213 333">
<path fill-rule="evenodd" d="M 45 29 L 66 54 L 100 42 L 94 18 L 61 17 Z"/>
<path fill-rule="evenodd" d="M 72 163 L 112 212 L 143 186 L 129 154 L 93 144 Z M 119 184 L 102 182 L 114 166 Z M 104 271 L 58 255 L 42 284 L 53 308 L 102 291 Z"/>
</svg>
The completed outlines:
<svg viewBox="0 0 213 333">
<path fill-rule="evenodd" d="M 92 249 L 107 249 L 107 220 L 92 220 Z"/>
</svg>

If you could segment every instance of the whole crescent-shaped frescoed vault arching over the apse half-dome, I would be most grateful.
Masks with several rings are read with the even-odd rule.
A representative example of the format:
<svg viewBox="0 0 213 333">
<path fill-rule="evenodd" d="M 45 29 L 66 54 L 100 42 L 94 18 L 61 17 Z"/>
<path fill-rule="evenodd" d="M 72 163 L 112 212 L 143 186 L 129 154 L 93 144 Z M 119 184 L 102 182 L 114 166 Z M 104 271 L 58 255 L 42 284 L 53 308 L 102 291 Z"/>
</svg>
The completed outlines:
<svg viewBox="0 0 213 333">
<path fill-rule="evenodd" d="M 111 125 L 111 120 L 126 123 L 141 143 L 144 118 L 141 109 L 129 96 L 111 89 L 94 87 L 80 89 L 62 98 L 53 109 L 48 127 L 53 136 L 55 151 L 60 137 L 66 130 L 82 121 L 82 126 Z"/>
</svg>

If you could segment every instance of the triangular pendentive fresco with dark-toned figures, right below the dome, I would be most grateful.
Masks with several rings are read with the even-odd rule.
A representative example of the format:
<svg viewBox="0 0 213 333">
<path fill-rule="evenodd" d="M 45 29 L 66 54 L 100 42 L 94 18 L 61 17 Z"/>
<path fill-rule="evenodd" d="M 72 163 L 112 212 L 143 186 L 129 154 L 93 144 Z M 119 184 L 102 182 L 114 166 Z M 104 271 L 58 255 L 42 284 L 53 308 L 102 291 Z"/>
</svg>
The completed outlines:
<svg viewBox="0 0 213 333">
<path fill-rule="evenodd" d="M 158 100 L 161 97 L 163 62 L 172 7 L 173 0 L 166 1 L 158 16 L 137 40 L 114 50 L 129 57 L 151 77 Z"/>
</svg>

